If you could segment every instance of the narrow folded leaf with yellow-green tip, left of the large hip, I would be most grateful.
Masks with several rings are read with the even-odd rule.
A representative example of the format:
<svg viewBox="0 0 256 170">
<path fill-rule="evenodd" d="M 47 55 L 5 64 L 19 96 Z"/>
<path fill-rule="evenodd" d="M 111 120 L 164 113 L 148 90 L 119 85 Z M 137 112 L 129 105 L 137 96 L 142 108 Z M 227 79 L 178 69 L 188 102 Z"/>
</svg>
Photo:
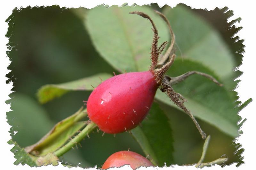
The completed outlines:
<svg viewBox="0 0 256 170">
<path fill-rule="evenodd" d="M 101 80 L 106 80 L 112 77 L 112 75 L 107 73 L 100 73 L 90 77 L 81 78 L 79 80 L 61 83 L 57 85 L 44 85 L 37 92 L 37 98 L 40 103 L 46 103 L 56 97 L 60 97 L 69 91 L 92 91 L 93 87 L 97 87 Z"/>
</svg>

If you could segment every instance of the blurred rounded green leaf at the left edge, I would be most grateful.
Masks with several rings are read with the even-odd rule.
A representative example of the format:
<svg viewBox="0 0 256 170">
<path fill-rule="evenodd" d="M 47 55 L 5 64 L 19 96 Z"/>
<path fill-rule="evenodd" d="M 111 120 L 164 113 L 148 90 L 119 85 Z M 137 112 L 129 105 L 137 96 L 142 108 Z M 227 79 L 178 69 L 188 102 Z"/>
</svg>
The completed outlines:
<svg viewBox="0 0 256 170">
<path fill-rule="evenodd" d="M 12 140 L 22 147 L 33 144 L 52 128 L 54 122 L 33 98 L 18 92 L 11 95 L 14 97 L 8 102 L 12 111 L 7 112 L 6 116 L 12 126 Z"/>
</svg>

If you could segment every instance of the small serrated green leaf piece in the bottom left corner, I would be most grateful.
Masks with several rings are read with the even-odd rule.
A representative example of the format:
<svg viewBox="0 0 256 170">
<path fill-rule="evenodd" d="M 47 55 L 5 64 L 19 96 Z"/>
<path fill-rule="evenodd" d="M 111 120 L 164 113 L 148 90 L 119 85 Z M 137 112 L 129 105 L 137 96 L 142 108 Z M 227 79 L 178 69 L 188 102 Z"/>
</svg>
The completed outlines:
<svg viewBox="0 0 256 170">
<path fill-rule="evenodd" d="M 14 158 L 16 159 L 13 163 L 14 165 L 28 164 L 29 166 L 37 166 L 32 158 L 24 151 L 24 148 L 20 148 L 20 146 L 12 140 L 9 140 L 8 144 L 14 144 L 14 147 L 11 149 L 12 153 L 14 153 Z"/>
</svg>

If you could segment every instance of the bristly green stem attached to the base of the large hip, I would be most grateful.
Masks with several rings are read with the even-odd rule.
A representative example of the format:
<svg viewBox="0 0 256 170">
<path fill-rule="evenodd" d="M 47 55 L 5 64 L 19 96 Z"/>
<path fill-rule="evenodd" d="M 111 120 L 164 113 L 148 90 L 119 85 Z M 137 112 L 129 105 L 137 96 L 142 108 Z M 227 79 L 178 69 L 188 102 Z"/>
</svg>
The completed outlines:
<svg viewBox="0 0 256 170">
<path fill-rule="evenodd" d="M 97 125 L 90 122 L 76 137 L 71 139 L 67 144 L 61 147 L 59 150 L 55 151 L 54 154 L 60 157 L 64 153 L 68 152 L 73 146 L 80 142 L 86 135 L 88 135 Z"/>
</svg>

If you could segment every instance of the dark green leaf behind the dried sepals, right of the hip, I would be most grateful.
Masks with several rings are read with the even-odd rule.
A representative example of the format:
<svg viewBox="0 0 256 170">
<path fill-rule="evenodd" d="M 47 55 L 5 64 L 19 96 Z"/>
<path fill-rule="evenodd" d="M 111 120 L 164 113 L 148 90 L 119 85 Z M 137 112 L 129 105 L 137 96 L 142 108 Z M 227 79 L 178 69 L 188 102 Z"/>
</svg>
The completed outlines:
<svg viewBox="0 0 256 170">
<path fill-rule="evenodd" d="M 167 74 L 175 77 L 193 70 L 210 74 L 218 79 L 213 71 L 202 64 L 179 58 L 175 60 Z M 237 122 L 241 119 L 238 115 L 239 108 L 234 103 L 235 98 L 230 97 L 225 87 L 220 87 L 205 77 L 192 75 L 174 85 L 173 88 L 188 100 L 185 106 L 194 116 L 216 126 L 232 137 L 238 136 Z M 177 107 L 160 91 L 157 91 L 156 99 L 172 107 Z"/>
</svg>

